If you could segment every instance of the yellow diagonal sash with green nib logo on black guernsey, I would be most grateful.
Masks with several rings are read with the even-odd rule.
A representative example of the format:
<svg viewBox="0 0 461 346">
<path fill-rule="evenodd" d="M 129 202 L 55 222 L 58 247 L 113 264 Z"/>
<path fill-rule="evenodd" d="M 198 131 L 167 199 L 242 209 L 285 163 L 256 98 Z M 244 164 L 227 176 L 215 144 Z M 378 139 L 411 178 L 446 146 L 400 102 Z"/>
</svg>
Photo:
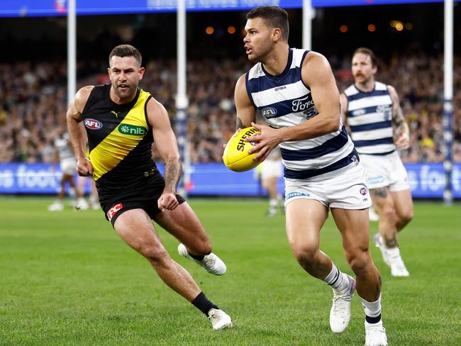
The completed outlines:
<svg viewBox="0 0 461 346">
<path fill-rule="evenodd" d="M 149 96 L 148 92 L 141 90 L 138 101 L 123 121 L 91 150 L 89 159 L 94 168 L 94 180 L 116 167 L 148 133 L 150 127 L 145 119 L 144 109 Z"/>
</svg>

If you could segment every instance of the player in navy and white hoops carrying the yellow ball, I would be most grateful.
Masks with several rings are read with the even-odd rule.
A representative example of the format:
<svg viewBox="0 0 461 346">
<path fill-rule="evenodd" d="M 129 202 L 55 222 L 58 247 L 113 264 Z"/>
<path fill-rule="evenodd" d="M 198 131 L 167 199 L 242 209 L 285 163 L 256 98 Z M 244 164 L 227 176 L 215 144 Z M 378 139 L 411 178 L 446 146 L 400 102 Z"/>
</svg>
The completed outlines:
<svg viewBox="0 0 461 346">
<path fill-rule="evenodd" d="M 287 11 L 260 6 L 247 14 L 244 38 L 256 65 L 235 86 L 237 128 L 261 130 L 246 140 L 263 161 L 280 146 L 286 184 L 287 236 L 306 272 L 333 288 L 330 326 L 341 333 L 350 320 L 357 287 L 365 309 L 365 345 L 387 345 L 381 319 L 379 272 L 368 249 L 370 196 L 365 171 L 340 118 L 339 91 L 323 55 L 288 45 Z M 259 110 L 267 125 L 254 123 Z M 356 279 L 319 250 L 331 209 Z"/>
</svg>

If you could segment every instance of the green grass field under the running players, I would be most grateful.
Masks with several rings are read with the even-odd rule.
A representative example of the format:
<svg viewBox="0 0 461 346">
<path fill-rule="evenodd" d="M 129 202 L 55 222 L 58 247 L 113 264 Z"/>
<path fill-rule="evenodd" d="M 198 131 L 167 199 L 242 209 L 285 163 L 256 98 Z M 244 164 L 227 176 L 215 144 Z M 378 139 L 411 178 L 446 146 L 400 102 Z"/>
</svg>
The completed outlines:
<svg viewBox="0 0 461 346">
<path fill-rule="evenodd" d="M 0 345 L 363 345 L 357 295 L 352 319 L 331 333 L 331 289 L 296 263 L 284 217 L 264 216 L 267 201 L 191 199 L 228 272 L 213 277 L 172 257 L 233 317 L 213 331 L 205 316 L 160 281 L 125 245 L 101 211 L 50 213 L 50 198 L 0 196 Z M 382 274 L 383 320 L 390 345 L 461 345 L 461 210 L 416 203 L 399 236 L 411 276 Z M 372 223 L 372 233 L 377 223 Z M 321 249 L 351 273 L 331 218 Z"/>
</svg>

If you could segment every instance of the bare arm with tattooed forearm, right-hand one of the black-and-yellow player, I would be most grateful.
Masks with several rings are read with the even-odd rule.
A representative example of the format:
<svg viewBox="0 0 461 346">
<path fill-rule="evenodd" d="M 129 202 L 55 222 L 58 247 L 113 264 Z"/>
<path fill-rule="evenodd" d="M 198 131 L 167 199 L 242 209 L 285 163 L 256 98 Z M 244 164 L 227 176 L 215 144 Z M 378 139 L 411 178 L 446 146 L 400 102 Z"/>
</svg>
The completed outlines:
<svg viewBox="0 0 461 346">
<path fill-rule="evenodd" d="M 158 208 L 160 211 L 173 210 L 179 206 L 176 189 L 182 172 L 176 136 L 173 133 L 167 110 L 162 104 L 155 99 L 150 99 L 147 109 L 155 142 L 162 143 L 157 146 L 157 150 L 165 162 L 165 189 L 158 199 Z"/>
</svg>

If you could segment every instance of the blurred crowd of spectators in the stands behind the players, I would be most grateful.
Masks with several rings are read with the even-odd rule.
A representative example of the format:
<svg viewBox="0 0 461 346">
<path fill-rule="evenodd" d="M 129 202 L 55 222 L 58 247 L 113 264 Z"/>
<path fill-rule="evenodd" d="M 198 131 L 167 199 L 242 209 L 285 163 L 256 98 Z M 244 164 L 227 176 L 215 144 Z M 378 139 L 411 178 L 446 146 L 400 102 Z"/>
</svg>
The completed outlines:
<svg viewBox="0 0 461 346">
<path fill-rule="evenodd" d="M 352 84 L 350 57 L 329 57 L 338 88 Z M 223 143 L 235 131 L 235 82 L 251 64 L 240 60 L 189 61 L 187 139 L 191 162 L 219 162 Z M 78 87 L 109 82 L 105 63 L 79 63 Z M 151 60 L 140 86 L 170 112 L 174 126 L 176 61 Z M 0 162 L 53 162 L 53 141 L 65 126 L 65 62 L 0 64 Z M 101 73 L 88 73 L 94 71 Z M 443 162 L 443 57 L 395 56 L 380 62 L 377 80 L 394 85 L 411 129 L 404 162 Z M 454 68 L 453 160 L 461 162 L 461 58 Z M 153 150 L 155 155 L 155 149 Z"/>
</svg>

